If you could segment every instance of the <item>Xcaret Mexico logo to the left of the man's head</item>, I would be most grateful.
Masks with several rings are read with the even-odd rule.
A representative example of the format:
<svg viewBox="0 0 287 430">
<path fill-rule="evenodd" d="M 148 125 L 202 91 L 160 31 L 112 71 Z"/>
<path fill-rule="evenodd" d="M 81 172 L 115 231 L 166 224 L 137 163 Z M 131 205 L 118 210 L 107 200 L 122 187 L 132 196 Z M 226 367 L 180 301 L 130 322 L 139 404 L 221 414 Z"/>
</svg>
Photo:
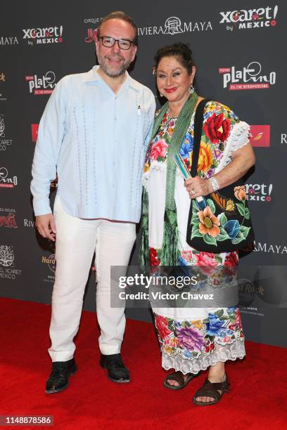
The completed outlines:
<svg viewBox="0 0 287 430">
<path fill-rule="evenodd" d="M 60 44 L 63 42 L 63 25 L 59 27 L 27 28 L 23 29 L 23 39 L 27 39 L 28 44 Z"/>
</svg>

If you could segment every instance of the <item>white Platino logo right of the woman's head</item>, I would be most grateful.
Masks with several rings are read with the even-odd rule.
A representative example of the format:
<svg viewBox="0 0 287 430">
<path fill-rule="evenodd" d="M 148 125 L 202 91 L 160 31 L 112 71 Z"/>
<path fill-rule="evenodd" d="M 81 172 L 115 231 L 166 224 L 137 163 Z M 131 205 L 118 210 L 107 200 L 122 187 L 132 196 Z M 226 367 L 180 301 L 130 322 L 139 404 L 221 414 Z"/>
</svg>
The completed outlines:
<svg viewBox="0 0 287 430">
<path fill-rule="evenodd" d="M 264 74 L 257 61 L 249 63 L 243 70 L 238 70 L 236 66 L 219 67 L 218 72 L 222 74 L 223 88 L 229 90 L 269 89 L 276 82 L 276 72 Z"/>
</svg>

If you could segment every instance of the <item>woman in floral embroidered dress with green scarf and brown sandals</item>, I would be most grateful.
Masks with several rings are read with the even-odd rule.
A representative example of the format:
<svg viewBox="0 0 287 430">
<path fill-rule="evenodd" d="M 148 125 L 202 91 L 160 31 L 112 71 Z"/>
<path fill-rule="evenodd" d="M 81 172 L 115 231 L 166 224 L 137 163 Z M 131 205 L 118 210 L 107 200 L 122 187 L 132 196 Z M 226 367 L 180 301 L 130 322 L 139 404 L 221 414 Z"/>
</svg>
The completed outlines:
<svg viewBox="0 0 287 430">
<path fill-rule="evenodd" d="M 200 143 L 198 176 L 184 182 L 168 155 L 170 145 L 180 138 L 180 153 L 190 169 L 194 115 L 202 98 L 193 89 L 196 67 L 189 47 L 174 44 L 160 48 L 155 56 L 155 73 L 158 91 L 167 98 L 167 104 L 155 115 L 162 115 L 162 121 L 158 130 L 153 130 L 144 167 L 141 263 L 151 266 L 236 265 L 236 252 L 211 254 L 189 247 L 186 226 L 190 199 L 234 183 L 255 163 L 248 140 L 249 126 L 240 122 L 229 107 L 209 101 L 203 112 L 205 139 Z M 174 221 L 168 216 L 167 190 L 172 190 L 176 205 Z M 175 370 L 165 378 L 165 387 L 184 388 L 198 372 L 209 367 L 208 378 L 196 392 L 193 403 L 217 403 L 223 393 L 229 391 L 224 362 L 245 356 L 238 308 L 217 309 L 216 313 L 210 308 L 153 308 L 153 312 L 162 367 Z"/>
</svg>

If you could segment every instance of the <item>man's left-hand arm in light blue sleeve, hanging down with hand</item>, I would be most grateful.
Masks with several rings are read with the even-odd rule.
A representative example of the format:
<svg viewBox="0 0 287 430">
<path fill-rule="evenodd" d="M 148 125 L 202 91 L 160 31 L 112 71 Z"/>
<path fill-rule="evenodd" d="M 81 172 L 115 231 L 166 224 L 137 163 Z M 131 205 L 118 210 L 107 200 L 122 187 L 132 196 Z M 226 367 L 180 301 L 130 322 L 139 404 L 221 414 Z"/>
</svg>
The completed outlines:
<svg viewBox="0 0 287 430">
<path fill-rule="evenodd" d="M 36 227 L 43 237 L 55 240 L 56 227 L 49 202 L 51 181 L 56 178 L 60 146 L 65 134 L 65 78 L 58 82 L 39 124 L 32 164 L 31 192 Z"/>
</svg>

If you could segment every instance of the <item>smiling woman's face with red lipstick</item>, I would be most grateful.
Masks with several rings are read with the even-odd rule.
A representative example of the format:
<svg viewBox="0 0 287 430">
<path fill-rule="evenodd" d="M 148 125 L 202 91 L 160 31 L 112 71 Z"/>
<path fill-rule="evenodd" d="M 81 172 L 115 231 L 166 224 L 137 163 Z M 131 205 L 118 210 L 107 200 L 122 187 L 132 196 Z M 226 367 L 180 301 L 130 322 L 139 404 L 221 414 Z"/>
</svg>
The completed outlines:
<svg viewBox="0 0 287 430">
<path fill-rule="evenodd" d="M 196 67 L 193 66 L 191 74 L 188 74 L 176 57 L 162 57 L 156 70 L 158 91 L 169 102 L 185 102 L 195 74 Z"/>
</svg>

